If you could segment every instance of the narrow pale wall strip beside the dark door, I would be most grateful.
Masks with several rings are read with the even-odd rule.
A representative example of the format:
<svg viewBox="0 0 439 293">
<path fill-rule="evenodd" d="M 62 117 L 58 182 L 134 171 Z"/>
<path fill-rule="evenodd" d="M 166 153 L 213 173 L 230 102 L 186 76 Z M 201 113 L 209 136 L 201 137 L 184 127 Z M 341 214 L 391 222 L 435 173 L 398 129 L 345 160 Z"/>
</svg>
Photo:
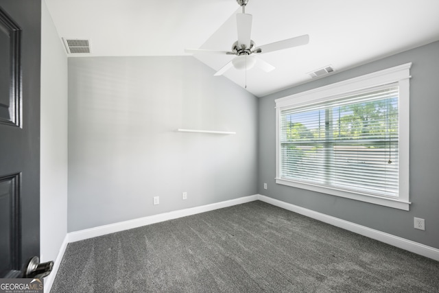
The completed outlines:
<svg viewBox="0 0 439 293">
<path fill-rule="evenodd" d="M 67 56 L 41 3 L 40 260 L 55 260 L 67 234 Z"/>
</svg>

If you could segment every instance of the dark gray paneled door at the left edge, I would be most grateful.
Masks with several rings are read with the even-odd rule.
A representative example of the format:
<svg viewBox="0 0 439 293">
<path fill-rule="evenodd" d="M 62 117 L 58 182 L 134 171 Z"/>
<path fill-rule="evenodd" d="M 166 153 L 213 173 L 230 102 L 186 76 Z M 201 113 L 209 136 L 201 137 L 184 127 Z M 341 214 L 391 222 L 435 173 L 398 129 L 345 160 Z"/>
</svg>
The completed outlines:
<svg viewBox="0 0 439 293">
<path fill-rule="evenodd" d="M 0 277 L 40 254 L 41 1 L 0 0 Z"/>
</svg>

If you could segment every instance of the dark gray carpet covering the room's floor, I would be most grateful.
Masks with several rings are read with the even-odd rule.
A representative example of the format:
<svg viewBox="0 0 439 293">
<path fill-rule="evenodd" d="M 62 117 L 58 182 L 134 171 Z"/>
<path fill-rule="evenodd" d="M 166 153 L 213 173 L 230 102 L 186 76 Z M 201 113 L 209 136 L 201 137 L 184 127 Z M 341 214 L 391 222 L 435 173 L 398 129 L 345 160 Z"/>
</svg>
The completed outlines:
<svg viewBox="0 0 439 293">
<path fill-rule="evenodd" d="M 71 243 L 56 292 L 439 292 L 439 262 L 256 201 Z"/>
</svg>

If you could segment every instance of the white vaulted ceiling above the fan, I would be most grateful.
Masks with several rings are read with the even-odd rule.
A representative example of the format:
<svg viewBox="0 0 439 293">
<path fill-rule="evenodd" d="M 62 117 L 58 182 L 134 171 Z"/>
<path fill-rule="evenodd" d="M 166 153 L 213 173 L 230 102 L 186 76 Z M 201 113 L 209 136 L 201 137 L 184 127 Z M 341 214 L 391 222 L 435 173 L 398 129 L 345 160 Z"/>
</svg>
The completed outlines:
<svg viewBox="0 0 439 293">
<path fill-rule="evenodd" d="M 184 49 L 230 51 L 235 0 L 45 0 L 58 34 L 88 38 L 87 56 L 184 56 Z M 230 69 L 224 76 L 261 97 L 439 40 L 438 0 L 249 0 L 252 40 L 265 45 L 309 34 L 309 44 L 260 54 L 276 69 Z M 438 53 L 439 54 L 439 53 Z M 73 55 L 70 55 L 73 56 Z M 84 55 L 81 55 L 84 56 Z M 195 54 L 219 70 L 234 56 Z M 217 77 L 223 78 L 223 77 Z"/>
</svg>

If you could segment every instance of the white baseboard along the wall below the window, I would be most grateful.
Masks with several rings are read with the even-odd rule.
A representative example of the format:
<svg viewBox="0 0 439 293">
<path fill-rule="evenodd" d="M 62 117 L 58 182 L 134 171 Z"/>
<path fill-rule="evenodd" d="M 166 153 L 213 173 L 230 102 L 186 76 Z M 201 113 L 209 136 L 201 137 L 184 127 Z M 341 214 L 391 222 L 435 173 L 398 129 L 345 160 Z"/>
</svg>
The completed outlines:
<svg viewBox="0 0 439 293">
<path fill-rule="evenodd" d="M 276 200 L 274 198 L 269 198 L 268 196 L 258 195 L 258 200 L 273 204 L 276 207 L 281 207 L 282 209 L 287 209 L 288 211 L 294 211 L 295 213 L 300 213 L 300 215 L 306 215 L 309 218 L 313 218 L 333 226 L 344 228 L 345 230 L 363 235 L 398 248 L 416 253 L 418 255 L 423 255 L 424 257 L 429 257 L 439 261 L 439 249 L 414 242 L 402 237 L 398 237 L 392 234 L 384 233 L 366 226 L 361 226 L 353 222 L 348 222 L 339 218 L 332 217 L 331 215 L 325 215 L 324 213 L 319 213 L 317 211 L 312 211 L 310 209 L 305 209 L 303 207 L 296 206 L 294 204 L 289 204 L 281 200 Z"/>
</svg>

